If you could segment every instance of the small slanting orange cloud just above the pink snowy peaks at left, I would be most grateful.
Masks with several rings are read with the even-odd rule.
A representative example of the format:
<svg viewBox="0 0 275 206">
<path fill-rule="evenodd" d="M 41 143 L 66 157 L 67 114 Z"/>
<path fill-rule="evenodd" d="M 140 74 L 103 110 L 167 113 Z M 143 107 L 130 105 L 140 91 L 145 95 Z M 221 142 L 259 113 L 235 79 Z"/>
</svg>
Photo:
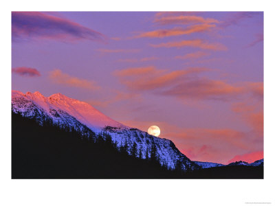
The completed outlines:
<svg viewBox="0 0 275 206">
<path fill-rule="evenodd" d="M 77 87 L 91 90 L 100 89 L 96 82 L 69 76 L 69 74 L 63 73 L 60 69 L 50 71 L 49 77 L 54 83 L 63 84 L 68 87 Z"/>
</svg>

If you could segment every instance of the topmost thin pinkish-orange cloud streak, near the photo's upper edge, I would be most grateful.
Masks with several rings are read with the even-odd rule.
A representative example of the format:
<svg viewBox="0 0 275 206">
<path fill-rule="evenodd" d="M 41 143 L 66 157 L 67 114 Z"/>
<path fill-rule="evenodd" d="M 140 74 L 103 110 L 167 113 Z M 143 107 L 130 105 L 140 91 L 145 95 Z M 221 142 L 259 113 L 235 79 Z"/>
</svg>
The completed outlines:
<svg viewBox="0 0 275 206">
<path fill-rule="evenodd" d="M 206 18 L 201 16 L 161 16 L 155 19 L 155 23 L 159 25 L 168 24 L 190 24 L 190 23 L 219 23 L 217 19 Z"/>
</svg>

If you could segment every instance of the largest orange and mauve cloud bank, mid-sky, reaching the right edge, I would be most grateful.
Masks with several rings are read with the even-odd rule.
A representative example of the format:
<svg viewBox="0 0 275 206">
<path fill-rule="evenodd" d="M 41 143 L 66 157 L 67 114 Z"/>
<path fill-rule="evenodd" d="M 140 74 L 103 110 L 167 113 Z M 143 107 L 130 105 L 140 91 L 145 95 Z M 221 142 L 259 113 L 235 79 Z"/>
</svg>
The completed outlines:
<svg viewBox="0 0 275 206">
<path fill-rule="evenodd" d="M 201 77 L 205 71 L 216 71 L 205 67 L 191 67 L 177 71 L 156 67 L 133 67 L 115 71 L 113 74 L 128 89 L 151 91 L 181 100 L 237 100 L 243 95 L 263 97 L 261 82 L 239 82 L 230 84 L 225 80 Z"/>
</svg>

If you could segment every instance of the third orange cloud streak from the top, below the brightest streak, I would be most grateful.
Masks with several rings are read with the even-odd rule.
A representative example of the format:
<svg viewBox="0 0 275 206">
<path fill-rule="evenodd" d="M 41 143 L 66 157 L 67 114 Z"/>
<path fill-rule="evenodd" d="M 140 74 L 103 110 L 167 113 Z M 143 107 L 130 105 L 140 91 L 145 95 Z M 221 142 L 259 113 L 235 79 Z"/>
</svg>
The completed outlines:
<svg viewBox="0 0 275 206">
<path fill-rule="evenodd" d="M 202 41 L 201 39 L 160 43 L 158 45 L 151 44 L 151 47 L 155 47 L 155 48 L 160 48 L 160 47 L 165 47 L 165 48 L 196 47 L 196 48 L 201 48 L 201 49 L 220 50 L 220 51 L 227 50 L 227 47 L 225 47 L 225 45 L 222 45 L 221 43 L 207 43 L 207 42 Z"/>
</svg>

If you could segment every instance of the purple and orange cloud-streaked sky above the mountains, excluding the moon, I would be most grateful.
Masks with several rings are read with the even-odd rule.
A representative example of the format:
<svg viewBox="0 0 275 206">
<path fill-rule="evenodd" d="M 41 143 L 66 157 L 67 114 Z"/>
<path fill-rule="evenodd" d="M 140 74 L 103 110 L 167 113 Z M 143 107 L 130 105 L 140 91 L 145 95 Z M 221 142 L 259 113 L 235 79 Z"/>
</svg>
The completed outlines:
<svg viewBox="0 0 275 206">
<path fill-rule="evenodd" d="M 159 126 L 194 161 L 256 161 L 263 12 L 12 12 L 12 89 Z"/>
</svg>

